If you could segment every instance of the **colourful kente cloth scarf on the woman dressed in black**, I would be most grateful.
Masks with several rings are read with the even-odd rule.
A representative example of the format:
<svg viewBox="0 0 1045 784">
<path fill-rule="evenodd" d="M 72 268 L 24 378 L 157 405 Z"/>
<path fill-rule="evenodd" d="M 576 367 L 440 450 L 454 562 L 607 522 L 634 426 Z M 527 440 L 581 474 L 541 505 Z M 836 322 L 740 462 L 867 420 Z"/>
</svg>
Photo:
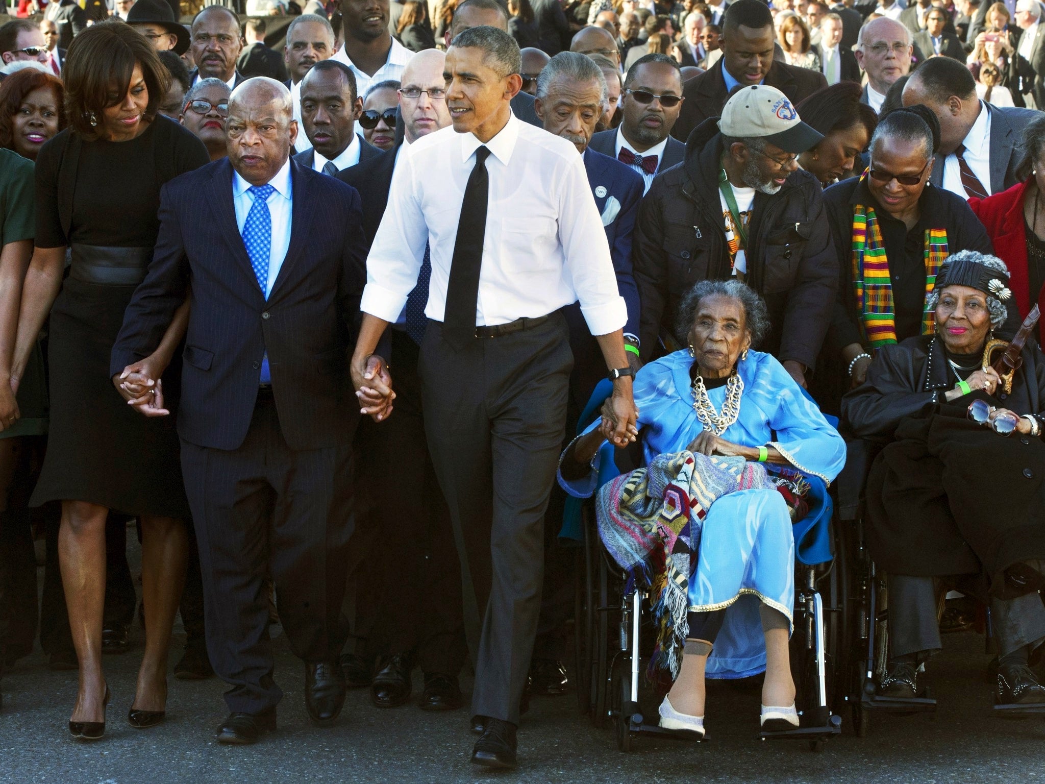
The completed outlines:
<svg viewBox="0 0 1045 784">
<path fill-rule="evenodd" d="M 929 299 L 936 282 L 939 266 L 948 256 L 947 229 L 926 229 L 925 232 L 925 299 Z M 897 342 L 896 306 L 889 260 L 885 257 L 882 230 L 873 207 L 853 207 L 853 293 L 860 314 L 860 326 L 872 348 Z M 933 312 L 925 307 L 922 314 L 922 335 L 935 330 Z"/>
</svg>

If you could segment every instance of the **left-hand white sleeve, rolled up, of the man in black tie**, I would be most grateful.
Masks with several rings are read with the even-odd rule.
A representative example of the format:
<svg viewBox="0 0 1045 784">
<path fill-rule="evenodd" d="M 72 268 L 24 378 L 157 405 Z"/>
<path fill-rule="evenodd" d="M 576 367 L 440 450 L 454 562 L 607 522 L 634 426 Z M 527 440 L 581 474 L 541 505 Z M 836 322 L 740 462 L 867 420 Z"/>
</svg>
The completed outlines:
<svg viewBox="0 0 1045 784">
<path fill-rule="evenodd" d="M 396 161 L 389 203 L 367 256 L 367 285 L 359 308 L 395 323 L 417 285 L 428 228 L 424 221 L 409 149 Z"/>
</svg>

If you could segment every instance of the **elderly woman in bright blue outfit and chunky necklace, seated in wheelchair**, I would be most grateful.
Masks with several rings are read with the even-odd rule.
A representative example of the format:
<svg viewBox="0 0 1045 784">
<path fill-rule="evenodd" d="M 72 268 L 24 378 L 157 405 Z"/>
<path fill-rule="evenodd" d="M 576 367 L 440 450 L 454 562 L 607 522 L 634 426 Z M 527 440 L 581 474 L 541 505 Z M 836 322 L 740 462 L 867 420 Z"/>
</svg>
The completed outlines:
<svg viewBox="0 0 1045 784">
<path fill-rule="evenodd" d="M 737 280 L 697 283 L 682 301 L 679 325 L 689 348 L 645 366 L 635 378 L 632 438 L 641 430 L 647 467 L 602 488 L 600 504 L 611 509 L 600 509 L 600 533 L 611 552 L 634 541 L 630 532 L 607 534 L 608 520 L 627 517 L 647 531 L 659 525 L 663 534 L 646 564 L 647 574 L 660 571 L 661 608 L 673 605 L 661 614 L 661 627 L 671 629 L 658 642 L 660 664 L 675 676 L 660 705 L 660 727 L 702 737 L 705 674 L 742 677 L 765 669 L 763 730 L 789 730 L 798 727 L 788 652 L 792 516 L 802 514 L 804 475 L 832 481 L 845 445 L 780 362 L 750 348 L 769 326 L 753 291 Z M 563 453 L 560 482 L 574 495 L 596 490 L 608 416 L 604 409 L 602 422 Z M 679 498 L 671 487 L 679 485 L 690 508 L 670 520 L 669 497 Z M 650 520 L 635 513 L 638 501 L 653 497 L 659 524 L 653 511 Z M 684 593 L 672 602 L 677 586 Z"/>
</svg>

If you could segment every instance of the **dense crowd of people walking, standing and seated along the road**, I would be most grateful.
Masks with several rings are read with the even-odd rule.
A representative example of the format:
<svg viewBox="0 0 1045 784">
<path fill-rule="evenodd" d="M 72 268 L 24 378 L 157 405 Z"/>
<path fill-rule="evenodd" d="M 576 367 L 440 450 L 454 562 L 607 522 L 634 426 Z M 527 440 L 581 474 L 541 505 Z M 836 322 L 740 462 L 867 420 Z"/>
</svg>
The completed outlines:
<svg viewBox="0 0 1045 784">
<path fill-rule="evenodd" d="M 0 668 L 39 629 L 97 740 L 137 618 L 116 696 L 154 728 L 180 614 L 176 678 L 224 681 L 216 739 L 254 743 L 278 622 L 320 725 L 417 670 L 421 710 L 461 709 L 470 661 L 471 760 L 514 767 L 570 686 L 568 497 L 635 445 L 598 505 L 673 531 L 661 725 L 702 736 L 704 679 L 764 671 L 763 728 L 794 728 L 791 525 L 841 431 L 880 448 L 879 692 L 920 693 L 947 586 L 991 608 L 998 704 L 1045 705 L 1045 328 L 983 359 L 1045 306 L 1043 9 L 9 8 Z M 665 482 L 699 488 L 692 530 L 650 511 Z"/>
</svg>

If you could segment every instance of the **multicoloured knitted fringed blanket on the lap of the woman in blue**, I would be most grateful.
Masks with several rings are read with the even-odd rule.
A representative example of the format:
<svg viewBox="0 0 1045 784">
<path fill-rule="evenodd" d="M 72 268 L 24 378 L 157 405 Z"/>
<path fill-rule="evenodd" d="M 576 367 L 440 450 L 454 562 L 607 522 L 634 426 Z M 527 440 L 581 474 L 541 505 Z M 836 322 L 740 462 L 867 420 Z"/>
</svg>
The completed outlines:
<svg viewBox="0 0 1045 784">
<path fill-rule="evenodd" d="M 674 678 L 689 632 L 690 569 L 712 503 L 728 492 L 771 487 L 761 463 L 678 452 L 617 477 L 599 490 L 599 536 L 630 579 L 650 586 L 657 644 L 650 670 Z"/>
</svg>

